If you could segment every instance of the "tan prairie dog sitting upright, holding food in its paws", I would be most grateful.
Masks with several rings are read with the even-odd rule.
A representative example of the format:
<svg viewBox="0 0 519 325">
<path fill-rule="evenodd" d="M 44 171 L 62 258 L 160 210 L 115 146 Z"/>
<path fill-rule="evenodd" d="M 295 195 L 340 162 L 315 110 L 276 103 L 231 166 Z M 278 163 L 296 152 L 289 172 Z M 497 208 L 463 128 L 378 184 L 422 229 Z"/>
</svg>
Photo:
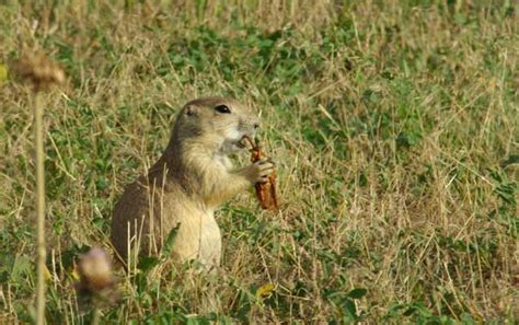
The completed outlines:
<svg viewBox="0 0 519 325">
<path fill-rule="evenodd" d="M 215 209 L 266 182 L 274 171 L 266 159 L 241 169 L 233 169 L 229 159 L 245 148 L 243 137 L 253 138 L 258 127 L 258 117 L 233 100 L 215 96 L 187 103 L 162 156 L 148 175 L 126 188 L 115 206 L 112 243 L 120 257 L 127 259 L 130 248 L 158 254 L 180 223 L 172 257 L 181 263 L 197 259 L 207 268 L 218 266 L 221 235 Z"/>
</svg>

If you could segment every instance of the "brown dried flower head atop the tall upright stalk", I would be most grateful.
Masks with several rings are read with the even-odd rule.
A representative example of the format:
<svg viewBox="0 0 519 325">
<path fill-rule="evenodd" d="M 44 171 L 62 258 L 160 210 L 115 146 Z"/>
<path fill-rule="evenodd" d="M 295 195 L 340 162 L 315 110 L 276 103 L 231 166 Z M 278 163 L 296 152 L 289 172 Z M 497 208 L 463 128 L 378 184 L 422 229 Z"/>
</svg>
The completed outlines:
<svg viewBox="0 0 519 325">
<path fill-rule="evenodd" d="M 23 55 L 14 63 L 14 71 L 21 79 L 32 82 L 35 91 L 65 81 L 65 72 L 59 65 L 41 53 Z"/>
</svg>

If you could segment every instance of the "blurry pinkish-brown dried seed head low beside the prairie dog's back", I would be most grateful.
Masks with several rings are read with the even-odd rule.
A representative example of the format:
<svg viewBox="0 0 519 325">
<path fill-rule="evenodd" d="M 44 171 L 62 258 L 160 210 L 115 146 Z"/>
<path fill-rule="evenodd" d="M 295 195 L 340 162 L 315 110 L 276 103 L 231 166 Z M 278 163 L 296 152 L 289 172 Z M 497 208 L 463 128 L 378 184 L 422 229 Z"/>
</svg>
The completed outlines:
<svg viewBox="0 0 519 325">
<path fill-rule="evenodd" d="M 80 287 L 91 292 L 100 292 L 114 285 L 112 262 L 102 248 L 92 248 L 81 256 L 78 271 Z"/>
</svg>

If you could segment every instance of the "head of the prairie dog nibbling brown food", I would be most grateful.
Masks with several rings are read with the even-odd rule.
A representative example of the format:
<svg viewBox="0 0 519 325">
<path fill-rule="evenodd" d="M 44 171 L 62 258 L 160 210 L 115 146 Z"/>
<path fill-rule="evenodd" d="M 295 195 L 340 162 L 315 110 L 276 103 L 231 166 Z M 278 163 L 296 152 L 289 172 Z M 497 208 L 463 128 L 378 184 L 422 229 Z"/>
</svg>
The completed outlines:
<svg viewBox="0 0 519 325">
<path fill-rule="evenodd" d="M 199 139 L 224 154 L 245 148 L 244 136 L 254 138 L 260 118 L 234 100 L 201 97 L 188 102 L 176 119 L 173 137 Z"/>
</svg>

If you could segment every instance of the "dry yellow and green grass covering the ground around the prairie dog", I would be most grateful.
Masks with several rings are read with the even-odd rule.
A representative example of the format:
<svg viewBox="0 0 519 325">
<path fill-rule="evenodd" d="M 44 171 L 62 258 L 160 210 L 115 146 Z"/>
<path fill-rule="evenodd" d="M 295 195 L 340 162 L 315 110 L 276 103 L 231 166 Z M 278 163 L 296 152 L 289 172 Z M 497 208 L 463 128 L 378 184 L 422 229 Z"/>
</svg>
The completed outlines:
<svg viewBox="0 0 519 325">
<path fill-rule="evenodd" d="M 92 321 L 74 259 L 109 249 L 124 186 L 206 94 L 262 113 L 282 209 L 237 197 L 221 274 L 141 263 L 102 323 L 517 321 L 518 5 L 274 2 L 0 7 L 0 60 L 38 48 L 69 76 L 45 95 L 47 322 Z M 0 323 L 35 317 L 27 91 L 0 88 Z"/>
</svg>

